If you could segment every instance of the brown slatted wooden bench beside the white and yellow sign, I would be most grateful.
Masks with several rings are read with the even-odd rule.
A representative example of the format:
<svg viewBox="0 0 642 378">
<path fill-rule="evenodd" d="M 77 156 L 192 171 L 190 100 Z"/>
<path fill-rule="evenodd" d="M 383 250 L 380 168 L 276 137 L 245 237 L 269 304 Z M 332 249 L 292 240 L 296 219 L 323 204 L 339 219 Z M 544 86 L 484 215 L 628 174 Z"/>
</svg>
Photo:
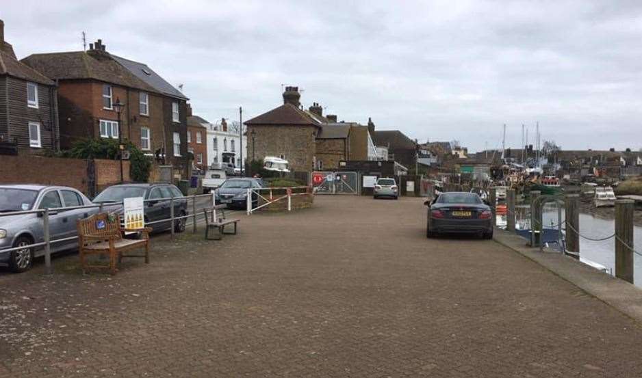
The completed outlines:
<svg viewBox="0 0 642 378">
<path fill-rule="evenodd" d="M 107 215 L 100 213 L 85 219 L 76 221 L 78 229 L 78 249 L 80 254 L 80 265 L 83 273 L 88 268 L 110 269 L 112 275 L 116 274 L 116 257 L 118 265 L 123 257 L 145 258 L 149 264 L 149 232 L 151 228 L 123 229 L 120 227 L 120 215 Z M 123 232 L 140 232 L 142 239 L 123 239 Z M 123 254 L 130 249 L 142 248 L 145 254 Z M 110 258 L 109 265 L 89 265 L 86 259 L 88 255 L 107 255 Z"/>
</svg>

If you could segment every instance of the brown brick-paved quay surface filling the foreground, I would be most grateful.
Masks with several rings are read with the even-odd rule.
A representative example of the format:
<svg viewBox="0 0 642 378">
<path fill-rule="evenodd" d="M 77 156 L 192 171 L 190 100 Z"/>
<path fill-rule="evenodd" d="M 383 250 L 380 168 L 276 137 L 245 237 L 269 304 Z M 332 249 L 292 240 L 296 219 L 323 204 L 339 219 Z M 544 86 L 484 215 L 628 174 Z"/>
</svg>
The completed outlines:
<svg viewBox="0 0 642 378">
<path fill-rule="evenodd" d="M 111 278 L 0 271 L 0 377 L 642 377 L 642 328 L 418 198 L 317 196 Z M 188 242 L 189 241 L 189 242 Z"/>
</svg>

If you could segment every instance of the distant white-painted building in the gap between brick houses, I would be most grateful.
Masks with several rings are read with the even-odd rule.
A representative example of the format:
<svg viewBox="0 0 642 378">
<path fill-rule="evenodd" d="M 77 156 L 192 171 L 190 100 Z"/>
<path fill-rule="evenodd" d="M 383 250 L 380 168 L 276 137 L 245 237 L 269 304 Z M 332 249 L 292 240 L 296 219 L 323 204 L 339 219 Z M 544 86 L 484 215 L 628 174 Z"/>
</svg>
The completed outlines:
<svg viewBox="0 0 642 378">
<path fill-rule="evenodd" d="M 227 124 L 225 118 L 216 124 L 205 124 L 207 128 L 207 165 L 220 167 L 222 163 L 231 163 L 240 169 L 247 161 L 247 137 L 243 135 L 241 144 L 240 124 Z M 244 130 L 245 131 L 245 130 Z M 241 162 L 241 152 L 243 162 Z"/>
</svg>

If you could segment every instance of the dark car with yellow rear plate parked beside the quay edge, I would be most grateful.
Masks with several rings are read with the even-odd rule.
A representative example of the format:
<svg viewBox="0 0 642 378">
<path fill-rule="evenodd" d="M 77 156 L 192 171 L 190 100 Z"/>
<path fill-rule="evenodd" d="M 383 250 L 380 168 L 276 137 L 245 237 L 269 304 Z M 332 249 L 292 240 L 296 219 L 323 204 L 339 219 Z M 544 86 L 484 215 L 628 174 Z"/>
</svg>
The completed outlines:
<svg viewBox="0 0 642 378">
<path fill-rule="evenodd" d="M 485 204 L 476 193 L 441 193 L 428 205 L 428 224 L 426 237 L 441 233 L 472 232 L 485 239 L 493 239 L 493 223 L 490 206 Z"/>
</svg>

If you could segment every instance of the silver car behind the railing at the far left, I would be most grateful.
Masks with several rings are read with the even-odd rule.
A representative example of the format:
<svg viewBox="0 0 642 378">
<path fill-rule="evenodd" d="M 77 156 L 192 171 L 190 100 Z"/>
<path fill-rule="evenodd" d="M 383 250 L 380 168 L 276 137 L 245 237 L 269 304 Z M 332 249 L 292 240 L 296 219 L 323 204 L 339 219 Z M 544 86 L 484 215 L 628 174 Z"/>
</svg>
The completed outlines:
<svg viewBox="0 0 642 378">
<path fill-rule="evenodd" d="M 52 209 L 49 211 L 50 240 L 75 237 L 76 220 L 89 217 L 97 212 L 96 208 L 64 210 L 64 207 L 86 206 L 91 201 L 80 191 L 70 187 L 45 185 L 0 185 L 0 213 Z M 44 255 L 44 247 L 27 247 L 42 243 L 44 228 L 42 213 L 8 215 L 0 217 L 0 265 L 8 265 L 13 272 L 29 270 L 34 258 Z M 72 239 L 51 243 L 51 252 L 59 252 L 77 247 L 78 241 Z M 25 246 L 12 252 L 1 249 Z"/>
</svg>

